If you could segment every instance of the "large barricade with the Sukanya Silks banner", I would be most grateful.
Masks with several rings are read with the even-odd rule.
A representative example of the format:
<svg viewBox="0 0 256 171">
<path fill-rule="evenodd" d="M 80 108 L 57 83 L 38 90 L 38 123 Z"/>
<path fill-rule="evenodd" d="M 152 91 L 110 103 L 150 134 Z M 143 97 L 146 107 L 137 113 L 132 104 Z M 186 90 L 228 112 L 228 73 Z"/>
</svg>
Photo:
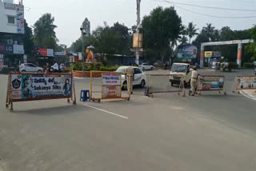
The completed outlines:
<svg viewBox="0 0 256 171">
<path fill-rule="evenodd" d="M 72 74 L 10 73 L 7 85 L 6 108 L 13 102 L 67 99 L 76 104 Z"/>
</svg>

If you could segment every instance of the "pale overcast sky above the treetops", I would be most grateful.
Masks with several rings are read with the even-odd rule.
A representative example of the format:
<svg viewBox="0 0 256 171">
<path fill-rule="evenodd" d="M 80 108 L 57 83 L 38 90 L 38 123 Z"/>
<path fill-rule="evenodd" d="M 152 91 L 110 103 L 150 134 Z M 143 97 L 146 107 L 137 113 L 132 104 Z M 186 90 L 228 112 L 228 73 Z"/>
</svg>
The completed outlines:
<svg viewBox="0 0 256 171">
<path fill-rule="evenodd" d="M 256 0 L 175 0 L 172 2 L 256 10 Z M 34 22 L 42 14 L 52 14 L 55 18 L 54 24 L 58 26 L 55 31 L 59 43 L 66 44 L 67 46 L 70 46 L 80 36 L 79 28 L 85 18 L 89 18 L 91 30 L 94 30 L 97 26 L 102 26 L 103 22 L 107 22 L 109 26 L 112 26 L 114 22 L 120 22 L 128 27 L 136 23 L 136 0 L 23 0 L 23 3 L 26 7 L 25 18 L 29 26 L 33 26 Z M 150 11 L 157 6 L 168 7 L 171 5 L 166 2 L 158 2 L 158 0 L 142 0 L 142 17 L 150 14 Z M 217 16 L 256 16 L 256 12 L 212 10 L 183 5 L 177 6 L 198 13 Z M 178 11 L 178 15 L 182 17 L 184 25 L 187 25 L 188 22 L 194 22 L 200 29 L 206 23 L 212 23 L 218 29 L 222 28 L 222 26 L 230 26 L 232 30 L 249 29 L 256 24 L 256 18 L 210 18 L 193 14 L 177 7 L 175 9 Z"/>
</svg>

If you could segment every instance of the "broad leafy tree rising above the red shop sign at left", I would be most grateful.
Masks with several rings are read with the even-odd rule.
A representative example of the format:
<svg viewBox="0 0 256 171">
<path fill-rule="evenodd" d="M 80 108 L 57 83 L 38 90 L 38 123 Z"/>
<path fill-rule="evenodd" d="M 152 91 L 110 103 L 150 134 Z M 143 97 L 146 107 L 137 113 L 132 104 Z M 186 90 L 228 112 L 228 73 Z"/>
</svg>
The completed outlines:
<svg viewBox="0 0 256 171">
<path fill-rule="evenodd" d="M 51 14 L 43 14 L 37 22 L 34 23 L 34 44 L 41 48 L 54 49 L 57 45 L 58 39 L 54 29 L 54 17 Z"/>
</svg>

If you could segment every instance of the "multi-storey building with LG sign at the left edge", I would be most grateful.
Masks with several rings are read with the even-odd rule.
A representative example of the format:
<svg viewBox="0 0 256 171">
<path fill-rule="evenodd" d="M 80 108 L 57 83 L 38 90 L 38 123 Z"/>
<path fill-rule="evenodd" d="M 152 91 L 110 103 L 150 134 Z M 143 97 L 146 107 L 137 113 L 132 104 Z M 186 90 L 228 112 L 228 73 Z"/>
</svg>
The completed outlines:
<svg viewBox="0 0 256 171">
<path fill-rule="evenodd" d="M 0 70 L 3 66 L 17 68 L 26 61 L 23 46 L 24 6 L 22 0 L 0 0 Z"/>
</svg>

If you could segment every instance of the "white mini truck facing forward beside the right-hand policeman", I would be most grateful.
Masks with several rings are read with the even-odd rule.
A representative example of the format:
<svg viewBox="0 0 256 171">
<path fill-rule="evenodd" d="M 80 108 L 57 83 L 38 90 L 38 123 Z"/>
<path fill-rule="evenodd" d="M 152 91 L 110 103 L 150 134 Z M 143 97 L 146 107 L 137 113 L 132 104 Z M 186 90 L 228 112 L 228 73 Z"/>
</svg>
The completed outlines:
<svg viewBox="0 0 256 171">
<path fill-rule="evenodd" d="M 184 84 L 185 86 L 190 85 L 190 79 L 192 75 L 192 70 L 190 69 L 190 64 L 187 63 L 174 63 L 173 66 L 171 66 L 170 69 L 170 83 L 173 86 L 174 84 L 179 85 L 181 76 L 183 75 L 184 77 Z M 177 76 L 175 76 L 177 75 Z"/>
</svg>

